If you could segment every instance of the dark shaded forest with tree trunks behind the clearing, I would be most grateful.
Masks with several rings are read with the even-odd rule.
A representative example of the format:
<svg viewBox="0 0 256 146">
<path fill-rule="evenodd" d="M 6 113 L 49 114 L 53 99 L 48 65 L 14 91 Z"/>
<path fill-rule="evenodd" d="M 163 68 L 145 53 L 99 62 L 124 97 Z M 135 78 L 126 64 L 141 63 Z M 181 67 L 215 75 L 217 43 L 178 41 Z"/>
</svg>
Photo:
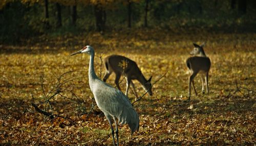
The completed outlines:
<svg viewBox="0 0 256 146">
<path fill-rule="evenodd" d="M 256 32 L 254 0 L 0 1 L 0 43 L 48 34 L 124 29 Z"/>
</svg>

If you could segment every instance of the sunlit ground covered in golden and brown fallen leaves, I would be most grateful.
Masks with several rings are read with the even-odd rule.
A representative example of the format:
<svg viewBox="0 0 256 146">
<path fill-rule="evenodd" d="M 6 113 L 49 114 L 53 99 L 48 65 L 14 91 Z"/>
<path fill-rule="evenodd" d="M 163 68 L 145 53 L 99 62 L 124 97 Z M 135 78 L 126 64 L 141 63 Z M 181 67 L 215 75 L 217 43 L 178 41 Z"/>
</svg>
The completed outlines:
<svg viewBox="0 0 256 146">
<path fill-rule="evenodd" d="M 185 60 L 192 42 L 203 41 L 212 62 L 210 93 L 202 94 L 200 78 L 196 77 L 199 95 L 192 92 L 187 102 L 189 73 Z M 95 48 L 95 69 L 101 77 L 102 54 L 129 57 L 146 78 L 153 75 L 153 82 L 168 71 L 153 86 L 153 96 L 146 95 L 134 105 L 140 117 L 139 132 L 131 136 L 129 127 L 119 126 L 120 145 L 256 143 L 256 34 L 134 30 L 41 36 L 24 40 L 19 46 L 1 45 L 0 145 L 112 144 L 109 123 L 94 106 L 89 88 L 89 56 L 69 56 L 84 45 Z M 114 75 L 107 82 L 114 85 Z M 138 81 L 135 85 L 142 95 Z M 124 91 L 125 81 L 121 88 Z M 133 93 L 129 95 L 134 101 Z M 31 103 L 58 116 L 50 119 Z"/>
</svg>

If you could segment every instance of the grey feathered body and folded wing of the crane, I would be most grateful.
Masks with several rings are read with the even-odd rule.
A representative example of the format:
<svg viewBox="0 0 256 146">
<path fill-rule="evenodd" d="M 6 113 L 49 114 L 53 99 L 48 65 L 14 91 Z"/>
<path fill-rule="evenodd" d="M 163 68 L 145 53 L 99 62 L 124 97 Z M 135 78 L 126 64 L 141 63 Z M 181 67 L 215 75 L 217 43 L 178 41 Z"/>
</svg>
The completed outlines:
<svg viewBox="0 0 256 146">
<path fill-rule="evenodd" d="M 139 116 L 131 101 L 119 90 L 98 80 L 93 94 L 100 110 L 118 119 L 118 124 L 128 124 L 132 134 L 139 129 Z"/>
</svg>

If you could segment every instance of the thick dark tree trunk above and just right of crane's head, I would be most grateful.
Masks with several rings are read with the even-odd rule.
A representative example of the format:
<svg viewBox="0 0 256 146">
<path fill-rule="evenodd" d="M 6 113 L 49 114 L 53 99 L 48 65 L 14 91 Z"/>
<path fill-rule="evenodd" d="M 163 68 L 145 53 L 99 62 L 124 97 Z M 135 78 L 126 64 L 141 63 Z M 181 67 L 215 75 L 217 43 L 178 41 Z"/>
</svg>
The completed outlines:
<svg viewBox="0 0 256 146">
<path fill-rule="evenodd" d="M 104 20 L 105 20 L 104 15 L 105 14 L 104 14 L 103 8 L 99 5 L 95 5 L 94 15 L 95 15 L 95 30 L 98 32 L 104 31 Z"/>
</svg>

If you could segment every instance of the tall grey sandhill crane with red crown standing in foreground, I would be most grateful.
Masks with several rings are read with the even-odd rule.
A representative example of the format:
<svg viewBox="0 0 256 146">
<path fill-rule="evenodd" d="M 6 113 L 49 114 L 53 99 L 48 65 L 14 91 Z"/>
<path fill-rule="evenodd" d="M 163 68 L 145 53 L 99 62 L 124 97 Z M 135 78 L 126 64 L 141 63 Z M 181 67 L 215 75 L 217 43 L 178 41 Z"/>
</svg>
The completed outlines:
<svg viewBox="0 0 256 146">
<path fill-rule="evenodd" d="M 101 81 L 94 71 L 94 49 L 91 46 L 85 46 L 81 50 L 71 54 L 88 53 L 90 55 L 89 62 L 89 85 L 94 95 L 95 101 L 99 109 L 104 113 L 106 119 L 110 123 L 112 130 L 113 144 L 115 145 L 114 129 L 112 127 L 112 118 L 116 127 L 116 139 L 118 141 L 118 124 L 128 124 L 133 134 L 139 130 L 139 116 L 133 108 L 130 100 L 119 90 Z"/>
</svg>

